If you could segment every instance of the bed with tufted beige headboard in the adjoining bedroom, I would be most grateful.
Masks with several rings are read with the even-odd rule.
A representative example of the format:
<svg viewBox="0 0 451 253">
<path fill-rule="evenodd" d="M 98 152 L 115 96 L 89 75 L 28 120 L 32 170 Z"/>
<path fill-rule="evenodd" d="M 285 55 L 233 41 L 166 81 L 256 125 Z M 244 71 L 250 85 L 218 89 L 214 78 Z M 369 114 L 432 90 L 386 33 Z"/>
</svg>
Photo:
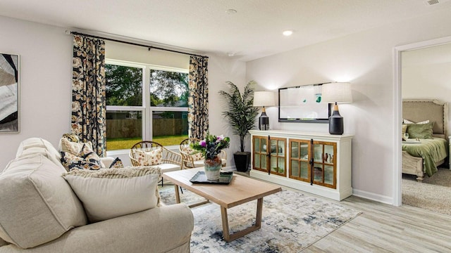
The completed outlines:
<svg viewBox="0 0 451 253">
<path fill-rule="evenodd" d="M 402 141 L 402 173 L 416 175 L 422 182 L 424 176 L 433 176 L 437 167 L 445 162 L 448 156 L 447 143 L 447 104 L 438 100 L 403 100 L 402 120 L 404 122 L 433 122 L 432 138 L 411 138 Z M 419 124 L 409 127 L 416 128 Z M 422 126 L 420 126 L 422 127 Z M 425 126 L 427 127 L 427 126 Z M 403 129 L 404 130 L 404 129 Z"/>
</svg>

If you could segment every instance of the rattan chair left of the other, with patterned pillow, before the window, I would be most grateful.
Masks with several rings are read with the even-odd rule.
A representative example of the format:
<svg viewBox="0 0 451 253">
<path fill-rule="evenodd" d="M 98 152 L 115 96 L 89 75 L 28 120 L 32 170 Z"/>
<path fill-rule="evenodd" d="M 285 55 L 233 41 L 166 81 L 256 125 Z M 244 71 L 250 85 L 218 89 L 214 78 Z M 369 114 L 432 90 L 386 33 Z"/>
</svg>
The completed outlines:
<svg viewBox="0 0 451 253">
<path fill-rule="evenodd" d="M 161 149 L 162 151 L 161 162 L 159 164 L 151 166 L 160 167 L 162 174 L 164 172 L 177 171 L 182 169 L 182 156 L 176 152 L 168 150 L 160 143 L 156 143 L 154 141 L 140 141 L 139 143 L 133 145 L 132 148 L 130 148 L 129 157 L 132 166 L 142 166 L 142 164 L 137 159 L 136 150 L 150 152 L 157 149 Z"/>
</svg>

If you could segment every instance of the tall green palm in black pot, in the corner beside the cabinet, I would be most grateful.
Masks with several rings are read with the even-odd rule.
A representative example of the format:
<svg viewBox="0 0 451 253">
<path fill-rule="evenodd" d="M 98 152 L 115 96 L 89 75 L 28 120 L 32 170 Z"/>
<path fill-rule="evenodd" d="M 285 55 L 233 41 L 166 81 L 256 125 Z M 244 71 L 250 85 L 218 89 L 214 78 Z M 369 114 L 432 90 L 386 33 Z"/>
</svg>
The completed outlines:
<svg viewBox="0 0 451 253">
<path fill-rule="evenodd" d="M 226 99 L 227 110 L 223 111 L 223 115 L 228 119 L 228 123 L 233 129 L 233 134 L 240 136 L 240 151 L 233 154 L 235 167 L 237 171 L 247 171 L 250 163 L 250 152 L 245 152 L 245 138 L 249 134 L 249 130 L 255 127 L 255 119 L 257 118 L 258 109 L 252 105 L 254 103 L 254 86 L 255 81 L 246 84 L 243 93 L 233 84 L 226 82 L 230 87 L 229 92 L 219 91 L 221 96 Z"/>
</svg>

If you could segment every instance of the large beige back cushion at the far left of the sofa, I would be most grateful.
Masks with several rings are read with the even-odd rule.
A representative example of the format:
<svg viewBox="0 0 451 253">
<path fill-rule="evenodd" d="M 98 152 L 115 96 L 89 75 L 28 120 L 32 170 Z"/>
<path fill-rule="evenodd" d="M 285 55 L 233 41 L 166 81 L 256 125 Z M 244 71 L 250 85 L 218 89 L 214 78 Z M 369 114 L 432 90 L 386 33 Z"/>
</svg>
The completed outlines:
<svg viewBox="0 0 451 253">
<path fill-rule="evenodd" d="M 0 237 L 35 247 L 87 223 L 80 200 L 44 155 L 11 161 L 0 174 Z"/>
</svg>

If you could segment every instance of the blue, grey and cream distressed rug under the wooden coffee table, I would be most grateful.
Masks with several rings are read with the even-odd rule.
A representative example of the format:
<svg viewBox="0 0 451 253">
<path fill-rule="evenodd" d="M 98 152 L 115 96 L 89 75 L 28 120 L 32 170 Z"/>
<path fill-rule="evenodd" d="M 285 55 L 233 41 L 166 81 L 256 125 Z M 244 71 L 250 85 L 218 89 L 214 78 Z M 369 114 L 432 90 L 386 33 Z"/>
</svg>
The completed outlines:
<svg viewBox="0 0 451 253">
<path fill-rule="evenodd" d="M 160 188 L 166 205 L 175 203 L 174 187 Z M 183 189 L 181 202 L 202 197 Z M 283 190 L 264 197 L 261 228 L 232 242 L 223 240 L 221 209 L 214 203 L 193 207 L 194 231 L 191 252 L 299 252 L 354 219 L 359 211 Z M 255 222 L 257 200 L 228 209 L 230 231 L 240 231 Z"/>
</svg>

